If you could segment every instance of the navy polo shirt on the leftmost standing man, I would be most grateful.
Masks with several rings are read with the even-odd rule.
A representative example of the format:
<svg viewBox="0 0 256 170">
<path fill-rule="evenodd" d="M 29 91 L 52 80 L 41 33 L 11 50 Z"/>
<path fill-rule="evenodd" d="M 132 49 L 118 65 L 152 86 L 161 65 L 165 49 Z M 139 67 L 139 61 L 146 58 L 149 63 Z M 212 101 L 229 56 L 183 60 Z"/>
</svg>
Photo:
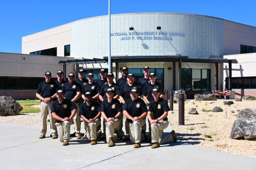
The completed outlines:
<svg viewBox="0 0 256 170">
<path fill-rule="evenodd" d="M 39 84 L 36 93 L 40 94 L 43 98 L 50 98 L 58 90 L 58 84 L 51 82 L 42 82 Z"/>
</svg>

